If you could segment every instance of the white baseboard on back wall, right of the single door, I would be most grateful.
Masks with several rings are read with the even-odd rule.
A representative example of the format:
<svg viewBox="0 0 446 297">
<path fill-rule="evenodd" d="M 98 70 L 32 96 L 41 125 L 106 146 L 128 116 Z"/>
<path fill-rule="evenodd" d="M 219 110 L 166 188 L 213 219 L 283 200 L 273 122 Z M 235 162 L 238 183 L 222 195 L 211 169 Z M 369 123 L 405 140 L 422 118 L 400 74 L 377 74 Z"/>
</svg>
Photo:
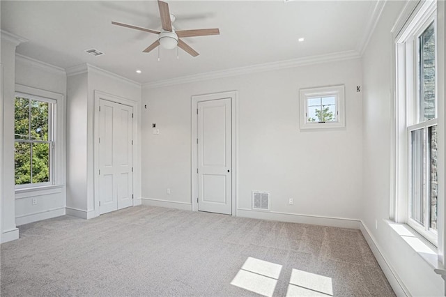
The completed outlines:
<svg viewBox="0 0 446 297">
<path fill-rule="evenodd" d="M 276 211 L 253 211 L 247 208 L 237 208 L 237 216 L 280 222 L 295 222 L 300 224 L 318 224 L 330 227 L 360 229 L 360 220 L 348 218 L 331 218 L 316 215 L 299 215 L 295 213 L 279 213 Z"/>
</svg>

